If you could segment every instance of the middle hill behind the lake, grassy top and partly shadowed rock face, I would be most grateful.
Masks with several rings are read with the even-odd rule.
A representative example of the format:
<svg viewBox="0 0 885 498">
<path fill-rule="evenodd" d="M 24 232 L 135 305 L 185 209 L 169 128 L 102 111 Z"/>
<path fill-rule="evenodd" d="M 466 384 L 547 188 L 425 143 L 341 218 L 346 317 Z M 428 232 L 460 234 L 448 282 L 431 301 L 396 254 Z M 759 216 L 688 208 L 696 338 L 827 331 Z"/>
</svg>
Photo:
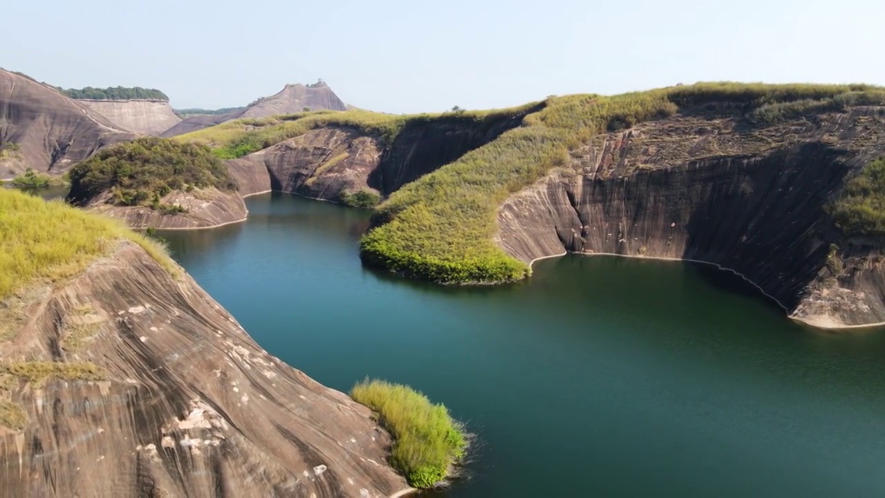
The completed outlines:
<svg viewBox="0 0 885 498">
<path fill-rule="evenodd" d="M 539 105 L 401 116 L 366 111 L 238 120 L 177 137 L 209 144 L 243 195 L 295 192 L 373 206 L 420 175 L 495 140 Z"/>
</svg>

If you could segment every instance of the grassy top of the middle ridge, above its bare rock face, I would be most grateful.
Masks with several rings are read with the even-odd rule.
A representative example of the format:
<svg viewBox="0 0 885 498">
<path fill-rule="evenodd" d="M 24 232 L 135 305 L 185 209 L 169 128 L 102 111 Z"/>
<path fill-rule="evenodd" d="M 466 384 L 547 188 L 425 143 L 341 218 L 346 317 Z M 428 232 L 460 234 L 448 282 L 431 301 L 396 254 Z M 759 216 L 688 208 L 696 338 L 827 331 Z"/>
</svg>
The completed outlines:
<svg viewBox="0 0 885 498">
<path fill-rule="evenodd" d="M 228 121 L 210 128 L 203 128 L 175 140 L 212 147 L 222 159 L 236 159 L 251 152 L 266 149 L 289 138 L 324 127 L 355 128 L 366 135 L 377 136 L 385 145 L 392 144 L 396 136 L 411 121 L 496 120 L 501 117 L 527 113 L 534 105 L 521 105 L 509 109 L 489 111 L 458 111 L 455 113 L 397 115 L 373 113 L 352 109 L 350 111 L 315 111 L 295 113 L 269 118 Z"/>
</svg>

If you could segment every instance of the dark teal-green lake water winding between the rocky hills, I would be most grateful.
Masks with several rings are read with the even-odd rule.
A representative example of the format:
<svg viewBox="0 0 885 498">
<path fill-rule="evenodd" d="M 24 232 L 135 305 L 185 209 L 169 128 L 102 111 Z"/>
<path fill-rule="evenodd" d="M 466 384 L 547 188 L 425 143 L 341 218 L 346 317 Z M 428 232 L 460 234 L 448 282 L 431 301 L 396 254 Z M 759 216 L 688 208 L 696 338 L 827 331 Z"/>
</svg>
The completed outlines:
<svg viewBox="0 0 885 498">
<path fill-rule="evenodd" d="M 269 352 L 412 385 L 478 435 L 446 496 L 881 496 L 885 333 L 820 333 L 735 277 L 572 256 L 449 289 L 362 268 L 365 212 L 273 194 L 167 232 Z"/>
</svg>

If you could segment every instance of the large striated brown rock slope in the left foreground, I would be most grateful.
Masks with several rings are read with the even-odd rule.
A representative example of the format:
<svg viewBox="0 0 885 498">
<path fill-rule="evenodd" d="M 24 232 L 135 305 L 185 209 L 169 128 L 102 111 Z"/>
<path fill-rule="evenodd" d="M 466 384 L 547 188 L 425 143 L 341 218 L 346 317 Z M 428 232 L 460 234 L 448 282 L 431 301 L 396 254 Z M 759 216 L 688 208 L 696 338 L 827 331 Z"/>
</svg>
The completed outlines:
<svg viewBox="0 0 885 498">
<path fill-rule="evenodd" d="M 4 377 L 27 414 L 23 429 L 0 428 L 4 496 L 407 489 L 368 409 L 267 354 L 189 276 L 173 278 L 137 245 L 28 296 L 0 365 L 92 363 L 100 378 Z"/>
</svg>

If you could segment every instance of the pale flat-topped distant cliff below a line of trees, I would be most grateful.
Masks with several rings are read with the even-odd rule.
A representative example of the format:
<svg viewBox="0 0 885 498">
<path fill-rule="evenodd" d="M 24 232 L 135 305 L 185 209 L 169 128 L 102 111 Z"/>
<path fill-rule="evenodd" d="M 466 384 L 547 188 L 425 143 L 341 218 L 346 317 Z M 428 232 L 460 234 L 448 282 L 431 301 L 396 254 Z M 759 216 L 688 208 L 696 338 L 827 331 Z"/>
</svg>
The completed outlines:
<svg viewBox="0 0 885 498">
<path fill-rule="evenodd" d="M 142 135 L 160 136 L 181 122 L 165 100 L 78 100 L 114 126 Z"/>
</svg>

